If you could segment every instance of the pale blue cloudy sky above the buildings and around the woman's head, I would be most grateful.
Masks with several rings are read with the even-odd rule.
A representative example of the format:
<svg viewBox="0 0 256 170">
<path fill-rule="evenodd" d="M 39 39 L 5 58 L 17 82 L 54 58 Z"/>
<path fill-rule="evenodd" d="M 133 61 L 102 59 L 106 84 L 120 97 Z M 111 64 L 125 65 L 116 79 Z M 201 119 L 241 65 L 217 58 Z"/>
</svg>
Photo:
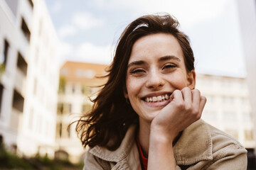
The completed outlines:
<svg viewBox="0 0 256 170">
<path fill-rule="evenodd" d="M 235 0 L 45 0 L 61 62 L 110 64 L 124 28 L 139 16 L 175 16 L 191 40 L 196 72 L 245 77 Z"/>
</svg>

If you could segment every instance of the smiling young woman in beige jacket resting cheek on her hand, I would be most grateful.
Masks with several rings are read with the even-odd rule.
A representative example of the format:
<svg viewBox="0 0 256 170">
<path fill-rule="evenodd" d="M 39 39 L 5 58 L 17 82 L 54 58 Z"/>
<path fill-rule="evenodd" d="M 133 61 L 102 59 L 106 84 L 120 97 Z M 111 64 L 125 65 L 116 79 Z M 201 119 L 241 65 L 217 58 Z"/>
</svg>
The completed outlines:
<svg viewBox="0 0 256 170">
<path fill-rule="evenodd" d="M 193 50 L 169 14 L 127 26 L 77 131 L 84 169 L 246 169 L 246 150 L 201 120 Z"/>
</svg>

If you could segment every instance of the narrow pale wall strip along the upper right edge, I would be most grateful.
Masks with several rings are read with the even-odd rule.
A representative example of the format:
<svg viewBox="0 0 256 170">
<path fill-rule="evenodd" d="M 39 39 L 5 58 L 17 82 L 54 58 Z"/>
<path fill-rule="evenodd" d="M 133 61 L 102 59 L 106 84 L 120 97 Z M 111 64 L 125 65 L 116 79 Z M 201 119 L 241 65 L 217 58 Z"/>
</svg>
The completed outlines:
<svg viewBox="0 0 256 170">
<path fill-rule="evenodd" d="M 247 80 L 250 90 L 250 102 L 252 106 L 252 120 L 254 123 L 254 134 L 256 136 L 256 1 L 237 0 L 238 16 L 240 18 L 241 42 L 243 55 L 247 69 Z M 255 141 L 256 146 L 256 141 Z M 255 148 L 256 154 L 256 148 Z M 256 165 L 255 165 L 256 166 Z"/>
</svg>

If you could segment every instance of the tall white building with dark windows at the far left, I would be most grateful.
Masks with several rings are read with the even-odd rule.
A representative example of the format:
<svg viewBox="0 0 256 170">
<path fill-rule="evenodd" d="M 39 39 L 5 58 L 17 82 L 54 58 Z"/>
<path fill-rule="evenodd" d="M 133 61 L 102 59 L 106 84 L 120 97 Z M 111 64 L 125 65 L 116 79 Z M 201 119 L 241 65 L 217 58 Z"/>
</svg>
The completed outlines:
<svg viewBox="0 0 256 170">
<path fill-rule="evenodd" d="M 0 135 L 18 154 L 53 157 L 58 38 L 43 0 L 0 0 Z"/>
</svg>

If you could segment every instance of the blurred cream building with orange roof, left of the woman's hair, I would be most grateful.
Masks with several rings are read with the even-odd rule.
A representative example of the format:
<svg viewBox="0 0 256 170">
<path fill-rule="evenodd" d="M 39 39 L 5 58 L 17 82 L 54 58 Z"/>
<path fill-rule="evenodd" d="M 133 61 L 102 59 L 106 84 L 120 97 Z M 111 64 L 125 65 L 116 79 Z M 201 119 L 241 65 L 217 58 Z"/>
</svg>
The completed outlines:
<svg viewBox="0 0 256 170">
<path fill-rule="evenodd" d="M 73 163 L 82 161 L 85 149 L 75 132 L 75 125 L 68 125 L 80 118 L 92 107 L 92 99 L 105 83 L 97 79 L 106 74 L 104 64 L 82 62 L 65 62 L 60 69 L 60 86 L 58 96 L 58 117 L 56 126 L 56 157 L 69 159 Z M 90 98 L 89 98 L 90 97 Z M 62 156 L 61 156 L 62 153 Z M 64 155 L 63 155 L 64 154 Z"/>
</svg>

